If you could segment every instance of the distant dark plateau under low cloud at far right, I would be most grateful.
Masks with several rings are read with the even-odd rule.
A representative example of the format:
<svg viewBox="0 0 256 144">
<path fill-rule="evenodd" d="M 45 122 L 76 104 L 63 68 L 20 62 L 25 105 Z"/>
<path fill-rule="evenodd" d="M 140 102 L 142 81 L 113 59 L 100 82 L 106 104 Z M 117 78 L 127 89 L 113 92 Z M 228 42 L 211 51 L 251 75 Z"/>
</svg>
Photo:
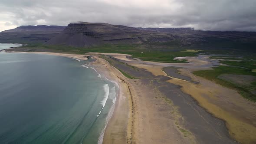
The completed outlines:
<svg viewBox="0 0 256 144">
<path fill-rule="evenodd" d="M 196 45 L 198 43 L 255 43 L 256 32 L 236 32 L 236 31 L 203 31 L 193 28 L 144 28 L 158 31 L 159 33 L 169 33 L 174 35 L 183 45 Z M 230 43 L 229 43 L 230 44 Z"/>
</svg>

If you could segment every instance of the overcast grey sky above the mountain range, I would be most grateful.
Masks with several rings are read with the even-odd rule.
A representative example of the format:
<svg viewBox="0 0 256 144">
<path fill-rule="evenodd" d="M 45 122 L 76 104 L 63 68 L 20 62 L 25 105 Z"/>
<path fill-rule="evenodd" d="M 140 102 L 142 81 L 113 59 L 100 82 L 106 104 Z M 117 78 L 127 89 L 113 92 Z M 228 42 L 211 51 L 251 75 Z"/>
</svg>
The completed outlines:
<svg viewBox="0 0 256 144">
<path fill-rule="evenodd" d="M 0 0 L 0 31 L 76 21 L 256 31 L 256 0 Z"/>
</svg>

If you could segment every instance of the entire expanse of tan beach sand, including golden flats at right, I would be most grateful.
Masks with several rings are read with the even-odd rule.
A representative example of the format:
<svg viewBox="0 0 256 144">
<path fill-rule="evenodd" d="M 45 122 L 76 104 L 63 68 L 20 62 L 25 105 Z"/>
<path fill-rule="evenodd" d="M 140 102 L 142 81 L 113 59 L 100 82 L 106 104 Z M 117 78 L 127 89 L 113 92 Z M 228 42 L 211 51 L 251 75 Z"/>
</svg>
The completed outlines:
<svg viewBox="0 0 256 144">
<path fill-rule="evenodd" d="M 86 55 L 72 55 L 52 52 L 35 53 L 66 56 L 75 59 L 87 59 L 87 56 L 102 54 L 88 53 Z M 171 78 L 167 79 L 166 82 L 180 85 L 181 87 L 179 89 L 194 98 L 198 102 L 198 105 L 215 117 L 224 120 L 229 134 L 233 138 L 245 144 L 256 142 L 256 104 L 246 100 L 234 90 L 192 74 L 195 70 L 211 69 L 207 67 L 207 65 L 210 65 L 210 62 L 204 60 L 207 57 L 203 57 L 202 59 L 186 57 L 183 59 L 187 59 L 190 63 L 170 64 L 138 61 L 136 59 L 129 59 L 129 55 L 123 54 L 104 55 L 115 57 L 129 65 L 142 70 L 144 69 L 145 71 L 151 72 L 154 76 L 164 75 L 165 77 Z M 194 131 L 191 132 L 186 129 L 186 127 L 189 128 L 190 123 L 182 123 L 182 121 L 186 120 L 186 118 L 183 118 L 186 115 L 181 115 L 183 108 L 177 107 L 170 99 L 166 98 L 167 94 L 164 93 L 165 91 L 160 92 L 159 89 L 156 89 L 155 85 L 158 85 L 157 81 L 148 81 L 149 79 L 128 79 L 104 59 L 98 56 L 95 56 L 95 59 L 96 61 L 92 65 L 96 66 L 96 69 L 108 79 L 118 82 L 120 87 L 114 113 L 105 129 L 104 144 L 202 143 L 203 140 L 200 141 L 198 134 L 195 136 Z M 200 67 L 201 65 L 204 66 Z M 182 67 L 178 69 L 180 74 L 189 76 L 193 81 L 199 82 L 200 84 L 167 76 L 162 70 L 166 66 Z M 194 68 L 191 66 L 194 66 Z M 153 83 L 153 85 L 150 83 Z M 173 87 L 176 88 L 175 86 Z M 178 89 L 176 90 L 178 91 Z M 183 95 L 180 92 L 178 93 L 178 95 Z M 196 104 L 194 105 L 196 106 Z M 204 113 L 201 109 L 200 111 Z M 207 117 L 209 116 L 207 115 Z M 209 119 L 208 123 L 211 119 Z M 217 121 L 216 126 L 222 123 L 217 119 L 213 121 Z M 209 123 L 210 125 L 213 126 L 214 124 Z M 214 134 L 216 134 L 216 137 L 223 139 L 223 141 L 232 141 L 225 133 L 219 134 L 224 129 L 220 128 Z M 184 134 L 184 131 L 187 133 Z M 201 134 L 203 135 L 202 132 Z M 227 138 L 225 139 L 225 137 Z"/>
</svg>

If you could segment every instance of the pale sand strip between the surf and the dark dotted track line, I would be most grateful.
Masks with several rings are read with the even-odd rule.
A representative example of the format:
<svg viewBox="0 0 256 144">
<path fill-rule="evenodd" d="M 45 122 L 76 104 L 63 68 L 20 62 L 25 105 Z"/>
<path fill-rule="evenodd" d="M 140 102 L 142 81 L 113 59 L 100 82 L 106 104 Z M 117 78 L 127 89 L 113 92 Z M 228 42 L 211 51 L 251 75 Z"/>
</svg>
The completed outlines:
<svg viewBox="0 0 256 144">
<path fill-rule="evenodd" d="M 14 51 L 3 50 L 3 52 L 14 52 Z M 126 87 L 125 85 L 122 85 L 123 83 L 121 80 L 121 79 L 126 79 L 126 78 L 121 74 L 121 72 L 119 72 L 117 69 L 115 69 L 112 65 L 110 65 L 108 62 L 106 62 L 104 59 L 102 59 L 101 62 L 98 62 L 98 60 L 101 59 L 101 58 L 97 57 L 98 54 L 78 55 L 78 54 L 66 54 L 66 53 L 57 53 L 57 52 L 16 52 L 16 53 L 35 53 L 35 54 L 62 56 L 62 57 L 70 58 L 70 59 L 75 59 L 79 62 L 81 60 L 87 60 L 88 56 L 93 56 L 95 61 L 91 62 L 91 65 L 94 66 L 95 69 L 97 69 L 97 71 L 96 70 L 95 71 L 98 72 L 100 75 L 104 75 L 106 79 L 115 83 L 115 85 L 118 85 L 118 87 L 119 87 L 118 94 L 116 95 L 115 103 L 112 106 L 113 110 L 108 111 L 107 117 L 109 117 L 109 119 L 107 120 L 107 118 L 106 118 L 105 128 L 103 128 L 103 131 L 99 134 L 98 144 L 102 144 L 102 143 L 108 144 L 108 141 L 115 141 L 112 139 L 112 136 L 110 136 L 111 131 L 113 131 L 113 129 L 112 129 L 113 126 L 109 126 L 109 125 L 114 124 L 112 122 L 114 120 L 112 120 L 112 119 L 120 119 L 120 116 L 122 116 L 124 123 L 128 124 L 128 119 L 129 119 L 128 115 L 130 113 L 130 108 L 127 105 L 129 103 L 128 99 L 125 99 L 126 98 L 125 91 L 128 91 L 128 87 Z M 103 62 L 103 61 L 105 61 L 105 62 Z M 94 68 L 92 68 L 92 69 L 94 69 Z M 111 72 L 109 72 L 108 70 L 110 70 Z M 127 109 L 127 108 L 129 111 L 125 112 L 124 109 Z M 120 111 L 120 109 L 123 109 L 124 111 Z M 110 112 L 112 112 L 112 114 L 110 114 Z M 125 115 L 122 115 L 121 113 L 123 113 Z M 115 117 L 115 118 L 113 118 L 113 117 Z M 127 131 L 127 125 L 124 123 L 119 124 L 119 127 L 120 128 L 122 127 L 122 129 L 125 131 L 120 132 L 118 130 L 119 131 L 118 137 L 121 135 L 122 138 L 119 139 L 118 142 L 115 141 L 114 143 L 116 143 L 116 144 L 118 144 L 119 141 L 126 143 L 126 137 L 124 137 L 124 136 L 126 136 L 128 131 Z M 109 131 L 109 134 L 108 134 L 108 131 Z"/>
</svg>

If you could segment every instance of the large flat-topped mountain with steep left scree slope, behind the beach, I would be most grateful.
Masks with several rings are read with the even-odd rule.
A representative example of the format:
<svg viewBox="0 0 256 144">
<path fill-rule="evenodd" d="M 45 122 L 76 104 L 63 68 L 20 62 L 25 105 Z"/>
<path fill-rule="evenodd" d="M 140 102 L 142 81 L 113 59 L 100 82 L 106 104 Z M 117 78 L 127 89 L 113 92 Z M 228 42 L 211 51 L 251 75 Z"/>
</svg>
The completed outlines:
<svg viewBox="0 0 256 144">
<path fill-rule="evenodd" d="M 96 46 L 101 44 L 163 43 L 178 37 L 156 29 L 143 29 L 108 23 L 70 23 L 62 33 L 46 44 L 68 46 Z"/>
</svg>

